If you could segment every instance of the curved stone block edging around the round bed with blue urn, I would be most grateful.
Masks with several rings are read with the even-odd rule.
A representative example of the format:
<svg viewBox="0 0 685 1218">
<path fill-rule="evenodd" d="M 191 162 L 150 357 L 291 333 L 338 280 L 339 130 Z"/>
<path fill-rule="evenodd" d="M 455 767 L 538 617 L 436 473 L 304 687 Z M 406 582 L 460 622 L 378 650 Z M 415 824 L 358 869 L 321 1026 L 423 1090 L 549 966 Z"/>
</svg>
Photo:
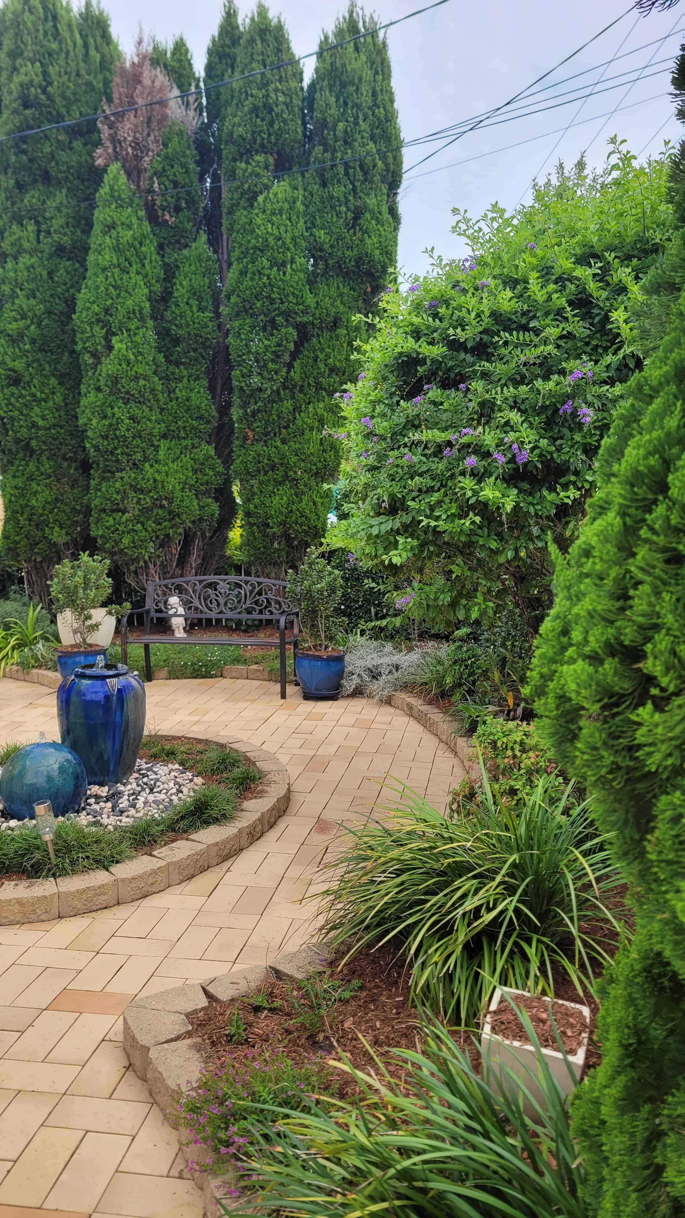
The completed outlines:
<svg viewBox="0 0 685 1218">
<path fill-rule="evenodd" d="M 161 736 L 173 737 L 172 732 Z M 262 772 L 260 794 L 238 804 L 233 820 L 190 833 L 186 838 L 116 862 L 108 871 L 84 871 L 55 879 L 0 878 L 0 926 L 48 922 L 56 917 L 91 914 L 110 905 L 139 901 L 165 888 L 182 884 L 245 850 L 275 825 L 290 803 L 290 777 L 282 761 L 267 749 L 225 736 L 186 737 L 202 744 L 225 744 L 252 761 Z M 11 831 L 10 831 L 11 832 Z"/>
</svg>

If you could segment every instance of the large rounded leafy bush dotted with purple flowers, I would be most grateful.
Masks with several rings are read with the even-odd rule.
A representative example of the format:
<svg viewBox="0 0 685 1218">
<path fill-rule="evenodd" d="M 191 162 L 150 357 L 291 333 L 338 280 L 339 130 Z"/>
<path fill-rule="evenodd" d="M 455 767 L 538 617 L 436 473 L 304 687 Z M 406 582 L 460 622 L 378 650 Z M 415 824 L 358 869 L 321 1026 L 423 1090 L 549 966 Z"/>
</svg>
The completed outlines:
<svg viewBox="0 0 685 1218">
<path fill-rule="evenodd" d="M 401 569 L 406 616 L 449 631 L 550 603 L 547 537 L 567 549 L 622 385 L 640 367 L 629 307 L 672 217 L 663 161 L 616 146 L 475 223 L 463 262 L 390 291 L 345 393 L 350 548 Z"/>
</svg>

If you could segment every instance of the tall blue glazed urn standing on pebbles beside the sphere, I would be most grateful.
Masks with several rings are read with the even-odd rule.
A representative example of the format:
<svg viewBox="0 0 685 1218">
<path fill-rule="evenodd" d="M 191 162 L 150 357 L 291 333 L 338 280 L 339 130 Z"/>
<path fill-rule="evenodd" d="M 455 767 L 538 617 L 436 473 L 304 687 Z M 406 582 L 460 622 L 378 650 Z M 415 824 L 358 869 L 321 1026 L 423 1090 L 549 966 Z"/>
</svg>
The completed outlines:
<svg viewBox="0 0 685 1218">
<path fill-rule="evenodd" d="M 57 689 L 57 722 L 89 786 L 126 782 L 145 731 L 145 687 L 124 664 L 87 664 Z"/>
</svg>

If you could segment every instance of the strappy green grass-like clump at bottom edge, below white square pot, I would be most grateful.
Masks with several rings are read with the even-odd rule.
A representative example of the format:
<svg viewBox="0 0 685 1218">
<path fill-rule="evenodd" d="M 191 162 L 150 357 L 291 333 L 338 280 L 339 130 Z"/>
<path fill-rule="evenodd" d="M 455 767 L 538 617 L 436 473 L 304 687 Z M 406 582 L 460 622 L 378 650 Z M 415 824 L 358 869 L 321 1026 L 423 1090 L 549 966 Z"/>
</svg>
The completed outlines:
<svg viewBox="0 0 685 1218">
<path fill-rule="evenodd" d="M 586 1218 L 583 1163 L 542 1055 L 535 1073 L 545 1102 L 533 1122 L 444 1028 L 422 1032 L 422 1054 L 395 1055 L 401 1084 L 382 1069 L 355 1074 L 363 1104 L 323 1099 L 299 1114 L 274 1107 L 275 1132 L 264 1121 L 245 1156 L 257 1201 L 236 1214 Z"/>
</svg>

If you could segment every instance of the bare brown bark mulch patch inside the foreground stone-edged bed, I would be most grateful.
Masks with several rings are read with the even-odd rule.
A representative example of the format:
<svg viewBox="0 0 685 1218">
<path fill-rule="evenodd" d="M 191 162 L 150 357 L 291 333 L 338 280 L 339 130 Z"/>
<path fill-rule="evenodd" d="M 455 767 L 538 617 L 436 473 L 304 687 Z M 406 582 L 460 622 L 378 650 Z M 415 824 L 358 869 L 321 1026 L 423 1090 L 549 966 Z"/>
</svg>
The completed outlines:
<svg viewBox="0 0 685 1218">
<path fill-rule="evenodd" d="M 408 973 L 399 963 L 392 963 L 389 951 L 362 952 L 330 976 L 341 982 L 361 982 L 362 987 L 351 998 L 338 1002 L 324 1013 L 322 1026 L 312 1030 L 299 1022 L 297 1002 L 301 988 L 272 978 L 260 990 L 267 993 L 273 1010 L 260 1010 L 249 998 L 228 1002 L 210 1002 L 196 1015 L 189 1015 L 191 1032 L 186 1038 L 204 1043 L 207 1065 L 215 1066 L 230 1054 L 232 1063 L 249 1063 L 255 1047 L 283 1047 L 294 1061 L 345 1056 L 357 1069 L 377 1069 L 373 1054 L 364 1046 L 363 1038 L 373 1052 L 378 1054 L 395 1077 L 401 1077 L 401 1062 L 392 1062 L 386 1052 L 392 1049 L 421 1049 L 417 1012 L 408 1006 Z M 245 1039 L 233 1044 L 227 1035 L 232 1015 L 239 1011 L 245 1026 Z M 338 1090 L 341 1097 L 357 1093 L 353 1079 L 340 1073 Z"/>
</svg>

